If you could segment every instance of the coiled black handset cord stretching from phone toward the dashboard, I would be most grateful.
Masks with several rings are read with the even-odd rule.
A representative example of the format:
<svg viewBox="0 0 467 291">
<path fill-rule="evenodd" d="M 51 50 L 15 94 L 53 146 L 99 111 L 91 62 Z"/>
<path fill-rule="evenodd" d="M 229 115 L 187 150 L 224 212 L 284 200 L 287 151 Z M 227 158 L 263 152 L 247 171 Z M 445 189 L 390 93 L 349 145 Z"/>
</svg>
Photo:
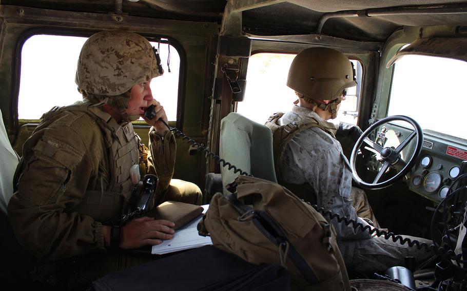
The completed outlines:
<svg viewBox="0 0 467 291">
<path fill-rule="evenodd" d="M 220 156 L 212 153 L 209 148 L 206 148 L 203 146 L 203 144 L 199 143 L 199 142 L 196 142 L 194 139 L 191 139 L 189 136 L 187 136 L 186 134 L 184 134 L 181 130 L 179 130 L 178 128 L 175 128 L 175 127 L 170 127 L 167 122 L 165 122 L 162 118 L 159 118 L 159 121 L 161 121 L 162 123 L 164 123 L 164 125 L 171 131 L 173 132 L 173 134 L 182 139 L 182 140 L 186 140 L 186 142 L 192 146 L 192 147 L 196 147 L 199 151 L 201 151 L 202 153 L 204 153 L 205 157 L 212 157 L 213 159 L 215 159 L 219 164 L 222 165 L 222 167 L 228 167 L 229 170 L 233 169 L 233 172 L 234 173 L 238 173 L 240 172 L 240 175 L 245 175 L 245 176 L 250 176 L 250 177 L 253 177 L 252 175 L 248 174 L 247 172 L 241 170 L 240 168 L 237 168 L 235 165 L 232 165 L 231 163 L 225 161 L 224 159 L 221 159 Z M 309 202 L 307 202 L 309 204 Z M 346 217 L 342 218 L 340 217 L 339 214 L 336 214 L 336 213 L 333 213 L 333 212 L 330 212 L 330 211 L 325 211 L 323 209 L 323 207 L 318 207 L 317 205 L 312 205 L 313 208 L 318 211 L 319 213 L 321 213 L 323 216 L 328 216 L 330 219 L 337 219 L 338 222 L 340 223 L 345 223 L 345 225 L 349 225 L 349 224 L 352 224 L 352 227 L 355 229 L 355 230 L 358 230 L 360 228 L 361 231 L 365 231 L 365 230 L 368 230 L 368 232 L 370 234 L 376 234 L 377 236 L 381 237 L 381 236 L 384 236 L 384 239 L 387 239 L 389 240 L 390 238 L 396 242 L 399 240 L 399 242 L 401 244 L 404 244 L 404 243 L 408 243 L 409 246 L 416 246 L 419 250 L 421 250 L 422 248 L 425 248 L 425 250 L 427 251 L 430 251 L 430 252 L 436 252 L 440 255 L 447 255 L 448 257 L 452 258 L 452 259 L 455 259 L 455 260 L 459 260 L 461 255 L 456 255 L 454 253 L 453 250 L 447 250 L 442 247 L 442 246 L 437 246 L 437 245 L 428 245 L 424 242 L 419 242 L 417 240 L 411 240 L 409 238 L 402 238 L 402 236 L 400 235 L 395 235 L 394 233 L 392 232 L 386 232 L 386 231 L 383 231 L 383 230 L 379 230 L 378 228 L 373 228 L 369 225 L 363 225 L 362 223 L 360 222 L 357 222 L 353 219 L 347 219 Z"/>
</svg>

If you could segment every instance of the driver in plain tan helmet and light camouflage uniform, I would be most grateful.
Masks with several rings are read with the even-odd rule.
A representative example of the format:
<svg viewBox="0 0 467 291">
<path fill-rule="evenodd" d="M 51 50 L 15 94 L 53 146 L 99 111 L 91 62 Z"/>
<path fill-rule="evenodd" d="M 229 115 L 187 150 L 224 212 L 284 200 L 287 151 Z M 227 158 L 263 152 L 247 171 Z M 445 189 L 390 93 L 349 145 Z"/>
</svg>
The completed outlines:
<svg viewBox="0 0 467 291">
<path fill-rule="evenodd" d="M 336 139 L 336 135 L 361 130 L 336 128 L 327 121 L 336 118 L 345 89 L 357 85 L 354 75 L 351 62 L 339 51 L 309 48 L 300 52 L 287 78 L 287 86 L 295 90 L 299 100 L 290 112 L 271 115 L 266 126 L 273 131 L 276 174 L 281 184 L 325 210 L 379 227 L 365 193 L 352 187 L 352 171 Z M 385 271 L 404 265 L 405 256 L 417 260 L 430 256 L 415 247 L 355 231 L 335 219 L 330 222 L 347 268 L 364 273 Z"/>
</svg>

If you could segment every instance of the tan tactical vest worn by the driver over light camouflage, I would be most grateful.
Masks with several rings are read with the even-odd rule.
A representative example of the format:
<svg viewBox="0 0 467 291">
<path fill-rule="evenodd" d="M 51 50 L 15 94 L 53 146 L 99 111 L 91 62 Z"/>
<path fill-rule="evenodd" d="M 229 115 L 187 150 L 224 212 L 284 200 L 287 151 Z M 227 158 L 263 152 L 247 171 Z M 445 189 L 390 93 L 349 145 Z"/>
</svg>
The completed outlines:
<svg viewBox="0 0 467 291">
<path fill-rule="evenodd" d="M 285 186 L 288 190 L 293 192 L 301 199 L 304 199 L 310 203 L 316 203 L 316 194 L 311 185 L 308 183 L 304 183 L 302 185 L 286 183 L 282 179 L 281 165 L 284 160 L 285 147 L 287 146 L 288 142 L 292 140 L 299 132 L 312 127 L 319 128 L 322 131 L 328 133 L 333 138 L 336 138 L 336 127 L 333 123 L 313 117 L 297 122 L 290 122 L 280 126 L 278 121 L 282 115 L 284 115 L 283 112 L 274 113 L 273 115 L 269 116 L 268 120 L 264 124 L 273 132 L 273 155 L 277 180 L 281 185 Z"/>
</svg>

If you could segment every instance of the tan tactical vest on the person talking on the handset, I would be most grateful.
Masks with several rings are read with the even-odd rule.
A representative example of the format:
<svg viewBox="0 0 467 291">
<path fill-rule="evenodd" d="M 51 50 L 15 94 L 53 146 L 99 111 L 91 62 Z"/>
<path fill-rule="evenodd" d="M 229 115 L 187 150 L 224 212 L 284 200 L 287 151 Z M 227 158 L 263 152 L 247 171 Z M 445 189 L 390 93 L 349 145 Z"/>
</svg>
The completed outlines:
<svg viewBox="0 0 467 291">
<path fill-rule="evenodd" d="M 88 215 L 96 221 L 106 222 L 128 211 L 132 188 L 135 184 L 130 178 L 130 168 L 139 163 L 139 136 L 134 132 L 131 122 L 119 125 L 108 113 L 99 109 L 101 103 L 88 102 L 62 108 L 54 108 L 43 116 L 43 122 L 60 111 L 80 111 L 91 116 L 102 132 L 107 148 L 108 169 L 99 166 L 101 191 L 87 190 L 74 211 Z M 92 129 L 90 129 L 92 130 Z"/>
</svg>

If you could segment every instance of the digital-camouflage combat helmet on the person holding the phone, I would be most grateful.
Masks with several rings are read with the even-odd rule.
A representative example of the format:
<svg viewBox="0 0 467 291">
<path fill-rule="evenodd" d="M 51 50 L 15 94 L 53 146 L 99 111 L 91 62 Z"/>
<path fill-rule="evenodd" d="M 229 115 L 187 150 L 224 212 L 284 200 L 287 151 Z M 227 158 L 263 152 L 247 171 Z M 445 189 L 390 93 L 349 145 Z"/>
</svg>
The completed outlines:
<svg viewBox="0 0 467 291">
<path fill-rule="evenodd" d="M 163 73 L 146 38 L 123 30 L 103 31 L 84 43 L 75 82 L 84 98 L 105 101 L 118 108 L 125 121 L 131 121 L 139 118 L 126 113 L 131 87 Z"/>
</svg>

